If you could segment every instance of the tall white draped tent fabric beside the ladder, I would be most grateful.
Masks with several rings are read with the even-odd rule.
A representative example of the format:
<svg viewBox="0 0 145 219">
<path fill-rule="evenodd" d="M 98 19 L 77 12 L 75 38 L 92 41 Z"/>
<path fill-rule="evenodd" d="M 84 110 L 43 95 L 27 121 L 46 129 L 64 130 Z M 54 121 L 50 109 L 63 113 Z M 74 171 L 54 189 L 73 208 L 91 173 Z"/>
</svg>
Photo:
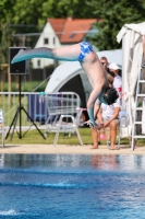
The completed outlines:
<svg viewBox="0 0 145 219">
<path fill-rule="evenodd" d="M 142 37 L 145 34 L 145 22 L 125 24 L 117 35 L 118 43 L 122 39 L 122 90 L 126 93 L 122 100 L 123 107 L 130 115 L 130 134 L 133 123 L 134 91 L 138 73 L 141 72 L 143 47 Z"/>
</svg>

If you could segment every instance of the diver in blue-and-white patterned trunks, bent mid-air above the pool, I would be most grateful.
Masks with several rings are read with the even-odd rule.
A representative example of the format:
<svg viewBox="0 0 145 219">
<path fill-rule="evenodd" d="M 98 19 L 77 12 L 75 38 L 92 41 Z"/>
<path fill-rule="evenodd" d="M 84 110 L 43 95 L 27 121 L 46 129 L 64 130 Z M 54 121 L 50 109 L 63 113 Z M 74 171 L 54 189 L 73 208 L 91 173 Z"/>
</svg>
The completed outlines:
<svg viewBox="0 0 145 219">
<path fill-rule="evenodd" d="M 99 110 L 100 103 L 112 104 L 118 99 L 116 89 L 109 88 L 107 72 L 102 68 L 97 54 L 93 50 L 93 46 L 87 42 L 81 42 L 72 46 L 61 48 L 35 48 L 31 50 L 21 49 L 12 59 L 12 64 L 31 58 L 50 58 L 56 60 L 76 61 L 78 60 L 82 68 L 86 72 L 93 91 L 87 102 L 87 112 L 93 126 L 97 127 L 94 118 L 94 104 L 97 100 Z"/>
</svg>

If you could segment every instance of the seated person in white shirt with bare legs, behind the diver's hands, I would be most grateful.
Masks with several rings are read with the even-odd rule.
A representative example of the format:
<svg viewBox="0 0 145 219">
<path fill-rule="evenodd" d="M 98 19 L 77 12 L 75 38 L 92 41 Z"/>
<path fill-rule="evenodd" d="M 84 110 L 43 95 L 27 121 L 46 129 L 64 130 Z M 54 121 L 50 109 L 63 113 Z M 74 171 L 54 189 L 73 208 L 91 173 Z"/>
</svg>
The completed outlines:
<svg viewBox="0 0 145 219">
<path fill-rule="evenodd" d="M 118 116 L 120 112 L 121 105 L 120 101 L 118 99 L 117 103 L 113 103 L 112 105 L 105 105 L 101 104 L 100 110 L 98 112 L 98 120 L 97 124 L 100 129 L 108 128 L 109 132 L 107 136 L 107 141 L 110 142 L 110 150 L 117 150 L 116 147 L 116 137 L 117 137 L 117 127 L 119 124 Z M 94 140 L 94 145 L 90 149 L 98 149 L 98 131 L 96 127 L 92 128 L 92 137 Z"/>
</svg>

